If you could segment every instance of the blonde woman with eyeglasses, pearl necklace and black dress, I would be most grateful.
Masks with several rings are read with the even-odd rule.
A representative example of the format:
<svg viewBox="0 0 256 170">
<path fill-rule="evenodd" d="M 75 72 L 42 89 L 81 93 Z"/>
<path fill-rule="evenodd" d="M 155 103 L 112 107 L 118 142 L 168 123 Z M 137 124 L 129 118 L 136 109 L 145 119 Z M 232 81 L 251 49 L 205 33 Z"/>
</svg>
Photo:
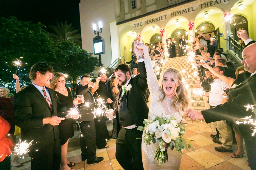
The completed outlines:
<svg viewBox="0 0 256 170">
<path fill-rule="evenodd" d="M 62 104 L 69 103 L 73 101 L 71 88 L 65 87 L 66 79 L 62 73 L 54 73 L 52 75 L 52 80 L 50 87 L 55 90 L 59 101 Z M 72 108 L 73 106 L 70 106 Z M 64 117 L 63 115 L 62 117 Z M 73 162 L 69 162 L 67 159 L 68 151 L 68 140 L 74 136 L 73 131 L 73 119 L 65 119 L 59 124 L 59 136 L 60 136 L 60 145 L 61 145 L 61 167 L 60 169 L 70 169 L 69 167 L 76 165 Z"/>
</svg>

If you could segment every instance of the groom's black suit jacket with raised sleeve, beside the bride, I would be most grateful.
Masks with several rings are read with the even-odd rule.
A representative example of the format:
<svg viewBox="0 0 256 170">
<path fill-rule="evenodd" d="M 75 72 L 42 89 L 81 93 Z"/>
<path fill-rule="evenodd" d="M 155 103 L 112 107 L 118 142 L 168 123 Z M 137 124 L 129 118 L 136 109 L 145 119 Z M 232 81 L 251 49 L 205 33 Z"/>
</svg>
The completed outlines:
<svg viewBox="0 0 256 170">
<path fill-rule="evenodd" d="M 129 84 L 132 85 L 130 91 L 127 91 L 126 101 L 129 115 L 132 117 L 136 126 L 144 126 L 144 119 L 148 118 L 148 106 L 146 98 L 147 89 L 147 74 L 144 62 L 138 62 L 140 74 L 134 78 L 131 78 Z M 121 97 L 122 88 L 119 89 L 117 99 Z M 120 130 L 119 115 L 118 115 L 118 102 L 116 104 L 116 120 L 117 120 L 117 133 Z"/>
</svg>

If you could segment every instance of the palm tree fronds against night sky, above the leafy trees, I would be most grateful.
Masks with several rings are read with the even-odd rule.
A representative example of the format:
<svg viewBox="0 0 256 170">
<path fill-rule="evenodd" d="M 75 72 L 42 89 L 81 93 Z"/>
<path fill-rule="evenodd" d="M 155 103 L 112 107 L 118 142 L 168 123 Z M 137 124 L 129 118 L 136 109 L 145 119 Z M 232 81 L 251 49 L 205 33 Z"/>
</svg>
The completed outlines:
<svg viewBox="0 0 256 170">
<path fill-rule="evenodd" d="M 56 26 L 51 25 L 49 26 L 54 33 L 49 33 L 49 36 L 52 38 L 54 42 L 64 42 L 64 41 L 71 41 L 73 40 L 74 43 L 82 46 L 81 42 L 81 35 L 78 33 L 78 30 L 74 30 L 74 27 L 72 27 L 72 24 L 67 24 L 67 21 L 65 21 L 65 24 L 62 22 L 59 23 L 56 22 Z"/>
</svg>

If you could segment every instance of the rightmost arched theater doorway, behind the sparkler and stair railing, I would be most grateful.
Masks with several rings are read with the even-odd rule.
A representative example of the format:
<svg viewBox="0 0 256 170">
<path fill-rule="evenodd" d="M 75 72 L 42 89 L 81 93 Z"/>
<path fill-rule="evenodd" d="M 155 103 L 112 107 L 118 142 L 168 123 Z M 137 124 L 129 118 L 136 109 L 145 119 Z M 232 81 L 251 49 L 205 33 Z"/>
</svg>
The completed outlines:
<svg viewBox="0 0 256 170">
<path fill-rule="evenodd" d="M 248 33 L 248 21 L 242 15 L 234 15 L 233 24 L 236 26 L 238 30 L 246 30 Z M 232 23 L 230 24 L 231 36 L 233 36 L 234 40 L 238 41 L 240 44 L 244 44 L 244 42 L 237 36 L 237 29 Z"/>
</svg>

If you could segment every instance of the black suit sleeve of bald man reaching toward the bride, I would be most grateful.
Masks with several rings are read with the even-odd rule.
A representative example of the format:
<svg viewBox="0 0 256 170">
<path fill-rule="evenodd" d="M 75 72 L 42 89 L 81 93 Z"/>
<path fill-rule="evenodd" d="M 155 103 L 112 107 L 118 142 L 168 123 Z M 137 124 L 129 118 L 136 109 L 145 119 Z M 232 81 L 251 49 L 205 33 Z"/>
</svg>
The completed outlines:
<svg viewBox="0 0 256 170">
<path fill-rule="evenodd" d="M 251 115 L 251 112 L 246 111 L 244 106 L 255 104 L 254 96 L 250 95 L 255 93 L 255 88 L 243 90 L 242 93 L 240 92 L 233 100 L 217 105 L 215 108 L 202 110 L 201 112 L 206 123 L 228 119 L 240 119 Z"/>
</svg>

